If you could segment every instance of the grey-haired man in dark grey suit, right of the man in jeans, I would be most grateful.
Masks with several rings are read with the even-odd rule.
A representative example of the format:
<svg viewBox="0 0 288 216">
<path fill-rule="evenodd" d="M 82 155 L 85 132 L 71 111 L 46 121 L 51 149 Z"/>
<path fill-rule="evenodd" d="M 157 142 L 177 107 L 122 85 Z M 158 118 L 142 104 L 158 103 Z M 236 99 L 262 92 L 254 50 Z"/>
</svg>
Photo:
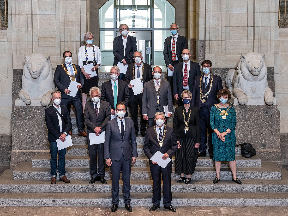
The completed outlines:
<svg viewBox="0 0 288 216">
<path fill-rule="evenodd" d="M 87 143 L 90 158 L 90 175 L 89 184 L 100 181 L 106 184 L 105 177 L 105 159 L 104 143 L 90 144 L 89 134 L 95 133 L 96 136 L 106 129 L 106 124 L 111 118 L 111 106 L 107 101 L 100 100 L 100 89 L 96 86 L 90 88 L 89 95 L 91 102 L 85 104 L 84 121 L 87 125 Z M 97 152 L 98 152 L 98 173 L 97 173 Z"/>
</svg>

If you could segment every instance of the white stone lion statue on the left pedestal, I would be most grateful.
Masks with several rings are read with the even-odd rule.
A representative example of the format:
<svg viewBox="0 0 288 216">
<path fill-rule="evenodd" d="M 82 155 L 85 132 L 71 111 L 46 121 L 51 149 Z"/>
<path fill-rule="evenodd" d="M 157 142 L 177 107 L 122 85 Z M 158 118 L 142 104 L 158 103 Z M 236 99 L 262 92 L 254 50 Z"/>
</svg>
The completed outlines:
<svg viewBox="0 0 288 216">
<path fill-rule="evenodd" d="M 35 52 L 24 58 L 20 100 L 29 105 L 31 99 L 41 99 L 41 105 L 46 107 L 51 102 L 51 93 L 55 91 L 50 56 Z"/>
</svg>

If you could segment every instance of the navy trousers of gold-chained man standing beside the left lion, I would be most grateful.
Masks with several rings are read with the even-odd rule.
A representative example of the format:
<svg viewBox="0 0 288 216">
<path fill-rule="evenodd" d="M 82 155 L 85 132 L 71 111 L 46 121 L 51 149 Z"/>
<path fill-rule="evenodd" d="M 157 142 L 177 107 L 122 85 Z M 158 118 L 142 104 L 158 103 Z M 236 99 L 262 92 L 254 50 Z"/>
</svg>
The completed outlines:
<svg viewBox="0 0 288 216">
<path fill-rule="evenodd" d="M 84 126 L 84 119 L 83 119 L 84 116 L 83 116 L 82 99 L 79 98 L 79 96 L 76 94 L 75 97 L 69 96 L 68 98 L 61 98 L 61 104 L 67 107 L 69 114 L 71 111 L 71 104 L 73 105 L 73 107 L 76 110 L 78 132 L 83 132 L 85 126 Z M 72 131 L 72 126 L 70 128 L 70 131 Z"/>
</svg>

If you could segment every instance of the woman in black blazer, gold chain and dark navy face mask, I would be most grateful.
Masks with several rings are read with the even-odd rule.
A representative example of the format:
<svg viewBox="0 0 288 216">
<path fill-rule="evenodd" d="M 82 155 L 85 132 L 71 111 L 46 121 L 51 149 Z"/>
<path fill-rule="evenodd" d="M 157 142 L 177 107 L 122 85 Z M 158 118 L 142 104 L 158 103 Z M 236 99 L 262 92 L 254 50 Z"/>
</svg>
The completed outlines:
<svg viewBox="0 0 288 216">
<path fill-rule="evenodd" d="M 191 182 L 200 145 L 199 109 L 190 105 L 191 97 L 190 91 L 184 90 L 181 93 L 184 105 L 176 107 L 173 119 L 174 133 L 178 143 L 178 149 L 175 152 L 175 173 L 180 173 L 177 183 L 185 181 L 185 184 Z"/>
</svg>

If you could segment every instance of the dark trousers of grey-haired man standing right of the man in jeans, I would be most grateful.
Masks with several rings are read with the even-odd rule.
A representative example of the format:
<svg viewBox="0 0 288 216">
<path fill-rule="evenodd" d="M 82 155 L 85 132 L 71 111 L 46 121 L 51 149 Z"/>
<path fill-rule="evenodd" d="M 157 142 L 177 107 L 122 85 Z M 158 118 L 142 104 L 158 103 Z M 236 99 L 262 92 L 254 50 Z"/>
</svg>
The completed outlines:
<svg viewBox="0 0 288 216">
<path fill-rule="evenodd" d="M 87 139 L 91 178 L 105 177 L 104 143 L 90 145 Z M 97 152 L 98 152 L 98 173 L 97 173 Z"/>
</svg>

